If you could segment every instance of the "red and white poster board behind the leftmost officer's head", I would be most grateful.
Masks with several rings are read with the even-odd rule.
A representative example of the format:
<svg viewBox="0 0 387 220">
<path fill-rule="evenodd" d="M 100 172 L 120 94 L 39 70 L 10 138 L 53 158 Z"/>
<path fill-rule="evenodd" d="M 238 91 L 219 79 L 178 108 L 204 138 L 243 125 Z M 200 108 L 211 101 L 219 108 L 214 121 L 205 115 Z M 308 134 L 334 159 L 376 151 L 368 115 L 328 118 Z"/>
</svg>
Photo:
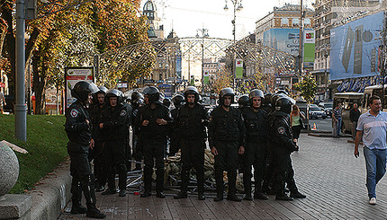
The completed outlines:
<svg viewBox="0 0 387 220">
<path fill-rule="evenodd" d="M 94 82 L 94 67 L 67 67 L 65 69 L 65 106 L 66 109 L 76 101 L 76 98 L 72 97 L 71 89 L 79 81 L 86 81 L 89 83 Z"/>
</svg>

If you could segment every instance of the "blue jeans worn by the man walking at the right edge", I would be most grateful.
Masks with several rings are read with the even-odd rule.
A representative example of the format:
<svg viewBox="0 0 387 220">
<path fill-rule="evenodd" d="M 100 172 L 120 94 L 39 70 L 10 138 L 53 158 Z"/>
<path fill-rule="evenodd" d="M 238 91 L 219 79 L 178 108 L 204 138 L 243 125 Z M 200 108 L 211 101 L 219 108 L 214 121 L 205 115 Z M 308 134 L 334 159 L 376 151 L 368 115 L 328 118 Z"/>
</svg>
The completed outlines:
<svg viewBox="0 0 387 220">
<path fill-rule="evenodd" d="M 365 165 L 367 168 L 368 197 L 376 198 L 375 188 L 386 172 L 386 150 L 364 148 Z"/>
</svg>

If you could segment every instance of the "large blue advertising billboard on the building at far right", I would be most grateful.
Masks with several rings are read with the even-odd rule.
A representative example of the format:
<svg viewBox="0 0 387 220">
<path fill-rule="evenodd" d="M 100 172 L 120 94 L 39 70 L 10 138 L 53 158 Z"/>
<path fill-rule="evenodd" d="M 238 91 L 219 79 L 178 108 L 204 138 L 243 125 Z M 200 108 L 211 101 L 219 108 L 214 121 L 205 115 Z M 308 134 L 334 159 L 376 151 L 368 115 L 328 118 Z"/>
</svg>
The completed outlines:
<svg viewBox="0 0 387 220">
<path fill-rule="evenodd" d="M 330 80 L 379 75 L 383 12 L 330 30 Z"/>
</svg>

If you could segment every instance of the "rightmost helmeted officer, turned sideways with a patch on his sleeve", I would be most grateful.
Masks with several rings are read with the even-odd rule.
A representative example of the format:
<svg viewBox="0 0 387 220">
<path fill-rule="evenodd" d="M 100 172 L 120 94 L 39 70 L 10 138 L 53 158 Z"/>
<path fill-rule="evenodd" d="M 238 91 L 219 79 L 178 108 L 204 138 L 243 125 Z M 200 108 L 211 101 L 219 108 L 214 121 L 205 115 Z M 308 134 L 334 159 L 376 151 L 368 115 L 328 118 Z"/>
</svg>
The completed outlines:
<svg viewBox="0 0 387 220">
<path fill-rule="evenodd" d="M 289 97 L 279 98 L 275 104 L 275 112 L 269 119 L 269 138 L 271 139 L 269 143 L 273 148 L 275 199 L 277 200 L 305 198 L 295 185 L 290 157 L 290 154 L 297 149 L 297 145 L 293 142 L 292 128 L 289 125 L 289 114 L 294 103 L 295 101 Z M 291 190 L 290 197 L 285 194 L 285 182 Z"/>
</svg>

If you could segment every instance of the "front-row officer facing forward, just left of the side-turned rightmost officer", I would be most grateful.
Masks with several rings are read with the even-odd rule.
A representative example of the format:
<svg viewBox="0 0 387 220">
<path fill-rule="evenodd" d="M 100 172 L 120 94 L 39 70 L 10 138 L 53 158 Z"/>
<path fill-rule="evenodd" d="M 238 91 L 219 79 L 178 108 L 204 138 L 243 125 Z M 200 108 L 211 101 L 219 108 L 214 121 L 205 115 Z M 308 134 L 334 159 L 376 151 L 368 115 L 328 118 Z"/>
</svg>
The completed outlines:
<svg viewBox="0 0 387 220">
<path fill-rule="evenodd" d="M 254 198 L 267 200 L 262 194 L 262 179 L 266 166 L 266 142 L 267 142 L 267 115 L 261 109 L 261 102 L 265 98 L 264 92 L 253 90 L 249 96 L 250 108 L 242 111 L 247 130 L 247 144 L 245 147 L 243 184 L 246 196 L 244 199 L 252 200 L 251 197 L 251 166 L 254 166 L 254 180 L 256 180 Z"/>
</svg>

